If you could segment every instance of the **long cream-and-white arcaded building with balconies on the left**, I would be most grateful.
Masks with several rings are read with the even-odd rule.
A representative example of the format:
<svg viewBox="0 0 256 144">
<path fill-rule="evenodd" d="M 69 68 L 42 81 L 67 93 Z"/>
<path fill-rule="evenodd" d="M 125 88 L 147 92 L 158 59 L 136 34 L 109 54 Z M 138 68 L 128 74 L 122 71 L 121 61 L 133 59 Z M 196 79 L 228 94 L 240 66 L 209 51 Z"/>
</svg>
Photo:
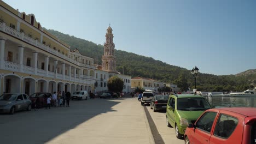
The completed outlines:
<svg viewBox="0 0 256 144">
<path fill-rule="evenodd" d="M 94 91 L 95 76 L 93 58 L 0 1 L 0 94 Z"/>
</svg>

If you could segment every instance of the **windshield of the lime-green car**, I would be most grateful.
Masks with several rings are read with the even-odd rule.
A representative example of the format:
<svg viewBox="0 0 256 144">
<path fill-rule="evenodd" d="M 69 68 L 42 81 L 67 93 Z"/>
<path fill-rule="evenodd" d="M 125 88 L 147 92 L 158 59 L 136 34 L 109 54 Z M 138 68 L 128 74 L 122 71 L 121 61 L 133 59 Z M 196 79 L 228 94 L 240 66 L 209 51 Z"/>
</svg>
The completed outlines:
<svg viewBox="0 0 256 144">
<path fill-rule="evenodd" d="M 177 99 L 177 110 L 200 111 L 211 109 L 205 98 L 179 98 Z"/>
</svg>

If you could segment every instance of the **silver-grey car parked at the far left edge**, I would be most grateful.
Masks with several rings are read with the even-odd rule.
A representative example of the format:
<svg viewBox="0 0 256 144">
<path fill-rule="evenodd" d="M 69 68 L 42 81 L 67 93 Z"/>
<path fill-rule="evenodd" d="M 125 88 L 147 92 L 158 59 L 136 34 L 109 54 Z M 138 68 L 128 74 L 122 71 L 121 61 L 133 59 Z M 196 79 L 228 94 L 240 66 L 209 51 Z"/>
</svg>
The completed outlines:
<svg viewBox="0 0 256 144">
<path fill-rule="evenodd" d="M 0 96 L 0 113 L 13 114 L 20 110 L 31 110 L 31 100 L 27 94 L 5 93 Z"/>
</svg>

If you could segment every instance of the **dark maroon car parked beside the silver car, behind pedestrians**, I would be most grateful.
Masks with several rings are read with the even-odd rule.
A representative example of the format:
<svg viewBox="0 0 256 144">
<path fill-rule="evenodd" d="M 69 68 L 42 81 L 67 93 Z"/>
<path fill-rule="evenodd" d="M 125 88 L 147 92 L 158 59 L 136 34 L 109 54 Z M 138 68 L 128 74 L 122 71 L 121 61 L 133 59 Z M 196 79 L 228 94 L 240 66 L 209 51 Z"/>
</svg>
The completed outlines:
<svg viewBox="0 0 256 144">
<path fill-rule="evenodd" d="M 39 98 L 39 106 L 38 107 L 45 107 L 47 106 L 47 101 L 46 99 L 48 97 L 51 97 L 51 93 L 33 93 L 30 95 L 30 100 L 31 100 L 31 106 L 32 108 L 35 107 L 36 105 L 36 100 Z"/>
</svg>

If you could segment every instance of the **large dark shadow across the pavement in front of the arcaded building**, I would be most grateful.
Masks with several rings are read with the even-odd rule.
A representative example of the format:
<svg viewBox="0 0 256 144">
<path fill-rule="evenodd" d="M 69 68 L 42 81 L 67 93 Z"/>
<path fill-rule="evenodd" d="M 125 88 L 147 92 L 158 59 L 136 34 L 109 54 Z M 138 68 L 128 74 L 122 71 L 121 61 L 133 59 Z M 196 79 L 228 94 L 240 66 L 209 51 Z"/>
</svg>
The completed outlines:
<svg viewBox="0 0 256 144">
<path fill-rule="evenodd" d="M 114 111 L 111 107 L 120 103 L 114 100 L 73 100 L 70 107 L 51 107 L 39 111 L 32 109 L 14 115 L 0 115 L 1 143 L 48 142 L 92 117 Z"/>
</svg>

